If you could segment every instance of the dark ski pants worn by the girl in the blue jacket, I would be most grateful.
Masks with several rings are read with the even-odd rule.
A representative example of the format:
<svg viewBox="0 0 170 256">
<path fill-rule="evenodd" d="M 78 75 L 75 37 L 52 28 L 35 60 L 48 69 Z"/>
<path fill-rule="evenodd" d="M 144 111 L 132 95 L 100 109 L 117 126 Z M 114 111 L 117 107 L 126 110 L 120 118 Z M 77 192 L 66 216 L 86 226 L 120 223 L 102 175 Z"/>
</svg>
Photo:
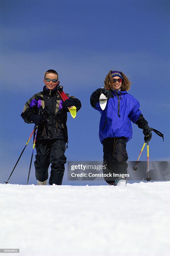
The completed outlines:
<svg viewBox="0 0 170 256">
<path fill-rule="evenodd" d="M 103 140 L 103 174 L 112 173 L 112 178 L 104 177 L 104 180 L 111 184 L 116 180 L 114 174 L 127 174 L 128 159 L 126 151 L 126 138 L 106 138 Z"/>
</svg>

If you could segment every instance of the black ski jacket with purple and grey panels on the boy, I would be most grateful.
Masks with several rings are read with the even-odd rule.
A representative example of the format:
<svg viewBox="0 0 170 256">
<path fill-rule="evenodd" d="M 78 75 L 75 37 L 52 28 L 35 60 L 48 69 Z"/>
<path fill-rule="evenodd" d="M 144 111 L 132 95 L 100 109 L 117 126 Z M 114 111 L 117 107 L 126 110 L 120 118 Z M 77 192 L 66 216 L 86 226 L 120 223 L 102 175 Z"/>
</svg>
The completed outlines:
<svg viewBox="0 0 170 256">
<path fill-rule="evenodd" d="M 75 98 L 66 93 L 67 97 Z M 21 113 L 25 123 L 32 123 L 30 121 L 31 115 L 38 114 L 40 106 L 44 109 L 46 106 L 47 118 L 38 126 L 36 141 L 43 139 L 57 139 L 68 141 L 67 132 L 67 110 L 62 108 L 63 101 L 58 95 L 57 88 L 48 90 L 43 87 L 42 92 L 34 94 L 26 103 Z M 81 108 L 81 102 L 77 99 L 77 111 Z"/>
</svg>

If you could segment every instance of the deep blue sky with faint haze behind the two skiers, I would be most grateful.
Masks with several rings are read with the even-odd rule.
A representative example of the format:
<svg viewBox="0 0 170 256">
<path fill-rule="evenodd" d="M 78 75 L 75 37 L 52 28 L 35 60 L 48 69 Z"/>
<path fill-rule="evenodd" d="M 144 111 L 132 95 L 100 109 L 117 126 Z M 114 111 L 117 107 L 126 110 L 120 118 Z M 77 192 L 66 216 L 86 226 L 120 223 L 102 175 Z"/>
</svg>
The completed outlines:
<svg viewBox="0 0 170 256">
<path fill-rule="evenodd" d="M 8 179 L 32 124 L 20 117 L 25 102 L 42 90 L 48 69 L 59 73 L 64 91 L 82 102 L 75 119 L 68 116 L 68 161 L 102 161 L 98 138 L 100 114 L 91 93 L 103 86 L 110 69 L 133 82 L 129 93 L 140 102 L 149 125 L 164 134 L 150 142 L 150 160 L 169 160 L 169 1 L 10 1 L 1 2 L 1 177 Z M 127 143 L 136 161 L 142 130 L 133 125 Z M 32 141 L 10 182 L 26 184 Z M 35 156 L 35 152 L 34 152 Z M 146 160 L 146 149 L 141 160 Z M 30 184 L 36 184 L 32 164 Z M 64 175 L 63 184 L 72 184 Z M 104 183 L 103 183 L 104 184 Z"/>
</svg>

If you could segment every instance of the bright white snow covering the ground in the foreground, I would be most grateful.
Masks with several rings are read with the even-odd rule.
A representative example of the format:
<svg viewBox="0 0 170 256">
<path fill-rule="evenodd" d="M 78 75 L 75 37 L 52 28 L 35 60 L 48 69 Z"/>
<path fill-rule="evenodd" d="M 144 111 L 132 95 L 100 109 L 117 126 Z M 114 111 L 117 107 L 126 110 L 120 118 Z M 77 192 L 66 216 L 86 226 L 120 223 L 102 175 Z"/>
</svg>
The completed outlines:
<svg viewBox="0 0 170 256">
<path fill-rule="evenodd" d="M 20 256 L 169 255 L 169 185 L 0 184 L 0 248 Z"/>
</svg>

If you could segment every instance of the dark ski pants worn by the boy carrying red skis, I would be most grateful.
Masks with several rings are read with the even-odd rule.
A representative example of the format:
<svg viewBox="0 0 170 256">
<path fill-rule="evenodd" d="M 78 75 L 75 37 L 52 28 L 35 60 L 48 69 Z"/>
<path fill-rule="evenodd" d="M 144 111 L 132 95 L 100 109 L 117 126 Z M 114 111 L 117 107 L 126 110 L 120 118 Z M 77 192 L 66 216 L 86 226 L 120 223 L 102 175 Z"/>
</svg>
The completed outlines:
<svg viewBox="0 0 170 256">
<path fill-rule="evenodd" d="M 63 140 L 42 140 L 36 143 L 35 177 L 39 181 L 48 179 L 48 168 L 51 163 L 49 184 L 61 185 L 64 175 L 64 155 L 66 143 Z"/>
</svg>

